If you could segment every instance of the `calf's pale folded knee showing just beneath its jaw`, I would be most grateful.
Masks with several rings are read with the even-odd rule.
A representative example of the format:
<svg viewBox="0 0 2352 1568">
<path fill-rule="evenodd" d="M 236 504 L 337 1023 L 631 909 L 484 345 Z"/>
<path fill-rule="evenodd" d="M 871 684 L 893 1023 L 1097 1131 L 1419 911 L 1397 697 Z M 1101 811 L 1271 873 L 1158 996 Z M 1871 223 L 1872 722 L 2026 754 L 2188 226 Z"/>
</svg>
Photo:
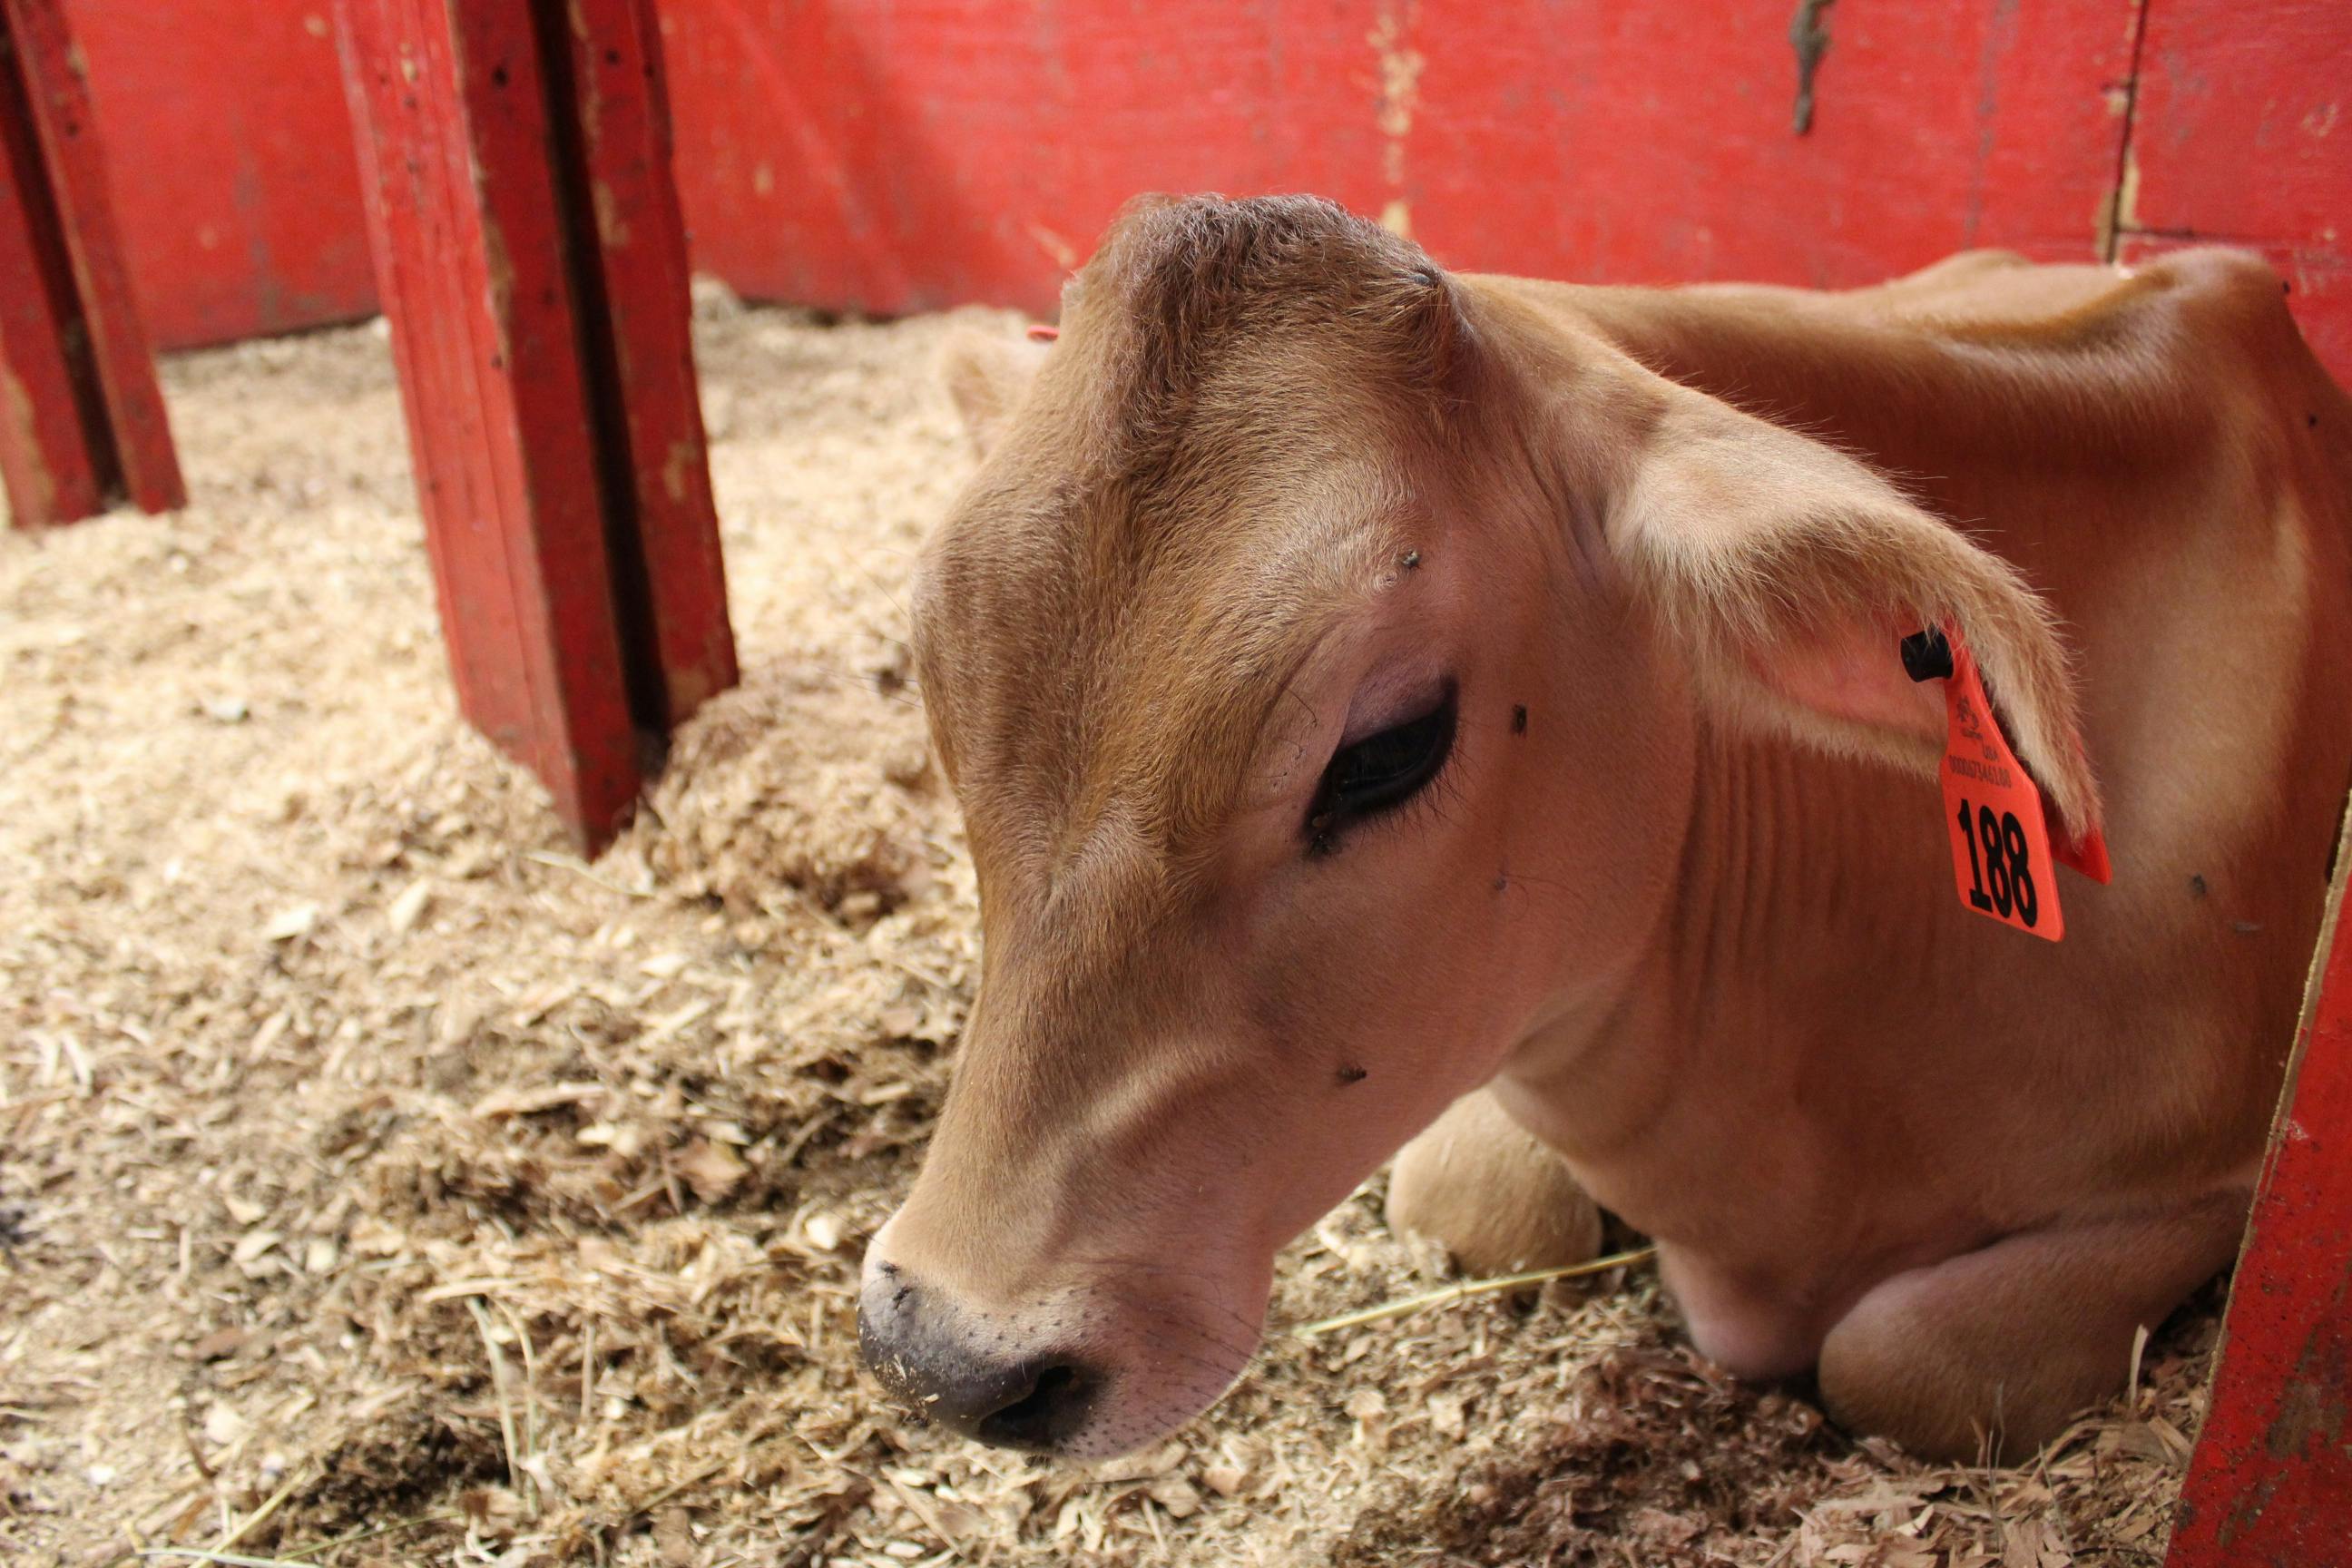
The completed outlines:
<svg viewBox="0 0 2352 1568">
<path fill-rule="evenodd" d="M 1388 1225 L 1439 1241 L 1470 1274 L 1564 1267 L 1602 1251 L 1599 1206 L 1484 1088 L 1397 1154 Z"/>
</svg>

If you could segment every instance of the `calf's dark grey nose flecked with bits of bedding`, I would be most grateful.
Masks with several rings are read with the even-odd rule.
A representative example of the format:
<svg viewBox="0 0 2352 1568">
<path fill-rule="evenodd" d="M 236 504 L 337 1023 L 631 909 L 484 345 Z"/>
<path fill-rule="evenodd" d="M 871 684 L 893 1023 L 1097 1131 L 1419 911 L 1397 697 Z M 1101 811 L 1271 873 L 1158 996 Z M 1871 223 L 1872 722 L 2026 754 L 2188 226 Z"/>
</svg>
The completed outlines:
<svg viewBox="0 0 2352 1568">
<path fill-rule="evenodd" d="M 858 1298 L 858 1349 L 908 1410 L 993 1448 L 1051 1453 L 1094 1408 L 1103 1378 L 1084 1361 L 1016 1349 L 967 1321 L 896 1265 L 880 1262 Z"/>
</svg>

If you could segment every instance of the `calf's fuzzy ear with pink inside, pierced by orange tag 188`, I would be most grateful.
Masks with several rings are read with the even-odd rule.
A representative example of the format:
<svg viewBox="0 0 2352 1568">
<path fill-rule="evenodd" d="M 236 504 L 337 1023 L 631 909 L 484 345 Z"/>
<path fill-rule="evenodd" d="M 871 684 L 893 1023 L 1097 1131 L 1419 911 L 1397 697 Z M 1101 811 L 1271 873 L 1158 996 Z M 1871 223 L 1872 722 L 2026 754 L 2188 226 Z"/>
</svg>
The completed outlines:
<svg viewBox="0 0 2352 1568">
<path fill-rule="evenodd" d="M 1670 386 L 1606 520 L 1729 722 L 1933 776 L 1943 686 L 1905 675 L 1900 639 L 1957 625 L 2051 816 L 2077 842 L 2100 825 L 2049 607 L 1863 463 Z"/>
</svg>

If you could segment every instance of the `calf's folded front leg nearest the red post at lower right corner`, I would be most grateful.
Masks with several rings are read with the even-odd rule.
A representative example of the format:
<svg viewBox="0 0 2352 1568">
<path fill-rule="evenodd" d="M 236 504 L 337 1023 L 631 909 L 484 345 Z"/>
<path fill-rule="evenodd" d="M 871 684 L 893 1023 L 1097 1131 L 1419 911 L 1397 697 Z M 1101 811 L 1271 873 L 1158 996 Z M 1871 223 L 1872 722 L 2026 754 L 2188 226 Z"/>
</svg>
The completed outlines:
<svg viewBox="0 0 2352 1568">
<path fill-rule="evenodd" d="M 1830 1328 L 1823 1403 L 1924 1458 L 2018 1462 L 2124 1387 L 2133 1333 L 2227 1267 L 2246 1201 L 2023 1232 L 1896 1274 Z"/>
</svg>

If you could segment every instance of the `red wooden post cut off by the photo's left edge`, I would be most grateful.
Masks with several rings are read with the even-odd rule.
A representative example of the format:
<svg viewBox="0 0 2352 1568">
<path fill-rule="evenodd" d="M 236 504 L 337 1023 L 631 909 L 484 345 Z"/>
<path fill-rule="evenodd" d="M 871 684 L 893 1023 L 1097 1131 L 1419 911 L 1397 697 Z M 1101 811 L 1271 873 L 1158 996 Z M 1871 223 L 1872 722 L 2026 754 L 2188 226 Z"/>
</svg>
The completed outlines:
<svg viewBox="0 0 2352 1568">
<path fill-rule="evenodd" d="M 0 482 L 19 527 L 186 503 L 59 0 L 0 0 Z"/>
</svg>

